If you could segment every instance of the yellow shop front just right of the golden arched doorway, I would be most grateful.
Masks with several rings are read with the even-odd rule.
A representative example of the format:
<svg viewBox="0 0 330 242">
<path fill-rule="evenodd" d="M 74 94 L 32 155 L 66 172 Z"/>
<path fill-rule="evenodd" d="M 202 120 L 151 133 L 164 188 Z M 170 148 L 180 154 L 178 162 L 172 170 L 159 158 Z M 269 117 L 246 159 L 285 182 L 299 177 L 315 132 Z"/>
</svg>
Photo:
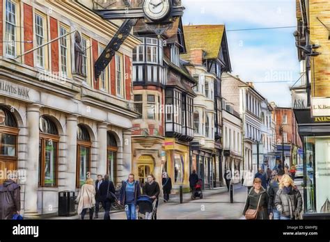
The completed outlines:
<svg viewBox="0 0 330 242">
<path fill-rule="evenodd" d="M 164 170 L 167 170 L 168 176 L 173 182 L 174 191 L 178 191 L 180 185 L 184 191 L 189 191 L 189 145 L 179 143 L 175 138 L 166 138 L 164 140 Z"/>
</svg>

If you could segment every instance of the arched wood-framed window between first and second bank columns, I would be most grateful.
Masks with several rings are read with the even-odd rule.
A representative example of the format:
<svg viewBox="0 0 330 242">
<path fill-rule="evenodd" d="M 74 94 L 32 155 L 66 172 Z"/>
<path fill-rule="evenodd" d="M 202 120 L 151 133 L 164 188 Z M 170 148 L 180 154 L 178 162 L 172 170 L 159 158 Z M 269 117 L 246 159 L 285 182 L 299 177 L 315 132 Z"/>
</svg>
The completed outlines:
<svg viewBox="0 0 330 242">
<path fill-rule="evenodd" d="M 58 130 L 45 115 L 39 118 L 39 186 L 56 187 L 58 177 Z"/>
</svg>

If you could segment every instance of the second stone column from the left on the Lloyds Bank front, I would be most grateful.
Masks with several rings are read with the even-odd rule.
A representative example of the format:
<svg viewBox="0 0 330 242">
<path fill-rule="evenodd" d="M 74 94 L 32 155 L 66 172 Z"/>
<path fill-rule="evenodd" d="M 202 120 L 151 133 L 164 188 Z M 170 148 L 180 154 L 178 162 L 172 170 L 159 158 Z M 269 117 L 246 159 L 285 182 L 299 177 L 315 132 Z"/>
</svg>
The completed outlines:
<svg viewBox="0 0 330 242">
<path fill-rule="evenodd" d="M 69 115 L 66 120 L 68 170 L 65 177 L 65 189 L 74 191 L 76 188 L 77 170 L 77 115 Z"/>
</svg>

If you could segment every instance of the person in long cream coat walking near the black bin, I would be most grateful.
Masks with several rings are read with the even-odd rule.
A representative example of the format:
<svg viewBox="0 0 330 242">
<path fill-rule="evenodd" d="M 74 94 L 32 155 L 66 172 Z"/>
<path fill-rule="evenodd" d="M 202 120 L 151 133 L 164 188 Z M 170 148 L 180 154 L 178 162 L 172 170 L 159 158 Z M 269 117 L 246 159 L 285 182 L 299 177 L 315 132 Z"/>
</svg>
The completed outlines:
<svg viewBox="0 0 330 242">
<path fill-rule="evenodd" d="M 81 214 L 81 219 L 84 220 L 87 210 L 89 210 L 89 219 L 93 219 L 95 206 L 95 186 L 91 178 L 86 179 L 86 183 L 81 186 L 76 202 L 78 202 L 78 214 Z"/>
</svg>

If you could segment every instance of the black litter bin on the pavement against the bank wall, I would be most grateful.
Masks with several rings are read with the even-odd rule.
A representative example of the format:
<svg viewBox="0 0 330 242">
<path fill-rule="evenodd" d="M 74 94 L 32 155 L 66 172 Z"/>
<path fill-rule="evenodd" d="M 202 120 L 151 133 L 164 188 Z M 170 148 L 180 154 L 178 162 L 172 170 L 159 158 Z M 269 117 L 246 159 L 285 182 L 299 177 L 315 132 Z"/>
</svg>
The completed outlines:
<svg viewBox="0 0 330 242">
<path fill-rule="evenodd" d="M 61 191 L 58 193 L 58 216 L 74 216 L 74 199 L 73 191 Z"/>
</svg>

